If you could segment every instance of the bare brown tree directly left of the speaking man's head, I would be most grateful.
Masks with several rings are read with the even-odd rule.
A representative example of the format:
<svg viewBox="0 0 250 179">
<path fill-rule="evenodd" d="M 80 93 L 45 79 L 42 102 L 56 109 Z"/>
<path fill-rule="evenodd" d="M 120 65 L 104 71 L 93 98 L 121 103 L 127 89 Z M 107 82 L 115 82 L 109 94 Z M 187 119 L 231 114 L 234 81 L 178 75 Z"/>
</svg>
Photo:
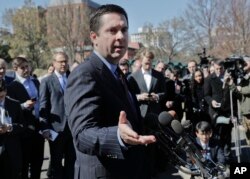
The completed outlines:
<svg viewBox="0 0 250 179">
<path fill-rule="evenodd" d="M 87 2 L 87 1 L 86 1 Z M 75 52 L 81 51 L 89 42 L 89 12 L 86 4 L 73 4 L 61 0 L 61 6 L 48 7 L 47 23 L 50 45 L 61 47 L 74 60 Z"/>
</svg>

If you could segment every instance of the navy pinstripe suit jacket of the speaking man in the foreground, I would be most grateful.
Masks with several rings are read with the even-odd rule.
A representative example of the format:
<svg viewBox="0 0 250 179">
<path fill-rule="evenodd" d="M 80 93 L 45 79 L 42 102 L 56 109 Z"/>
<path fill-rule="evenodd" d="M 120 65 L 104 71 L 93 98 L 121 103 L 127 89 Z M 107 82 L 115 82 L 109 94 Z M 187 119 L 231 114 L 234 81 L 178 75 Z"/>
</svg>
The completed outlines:
<svg viewBox="0 0 250 179">
<path fill-rule="evenodd" d="M 75 179 L 147 178 L 142 174 L 148 172 L 145 147 L 125 149 L 117 136 L 122 110 L 141 134 L 139 108 L 135 114 L 112 72 L 94 53 L 69 76 L 65 105 L 77 155 Z"/>
</svg>

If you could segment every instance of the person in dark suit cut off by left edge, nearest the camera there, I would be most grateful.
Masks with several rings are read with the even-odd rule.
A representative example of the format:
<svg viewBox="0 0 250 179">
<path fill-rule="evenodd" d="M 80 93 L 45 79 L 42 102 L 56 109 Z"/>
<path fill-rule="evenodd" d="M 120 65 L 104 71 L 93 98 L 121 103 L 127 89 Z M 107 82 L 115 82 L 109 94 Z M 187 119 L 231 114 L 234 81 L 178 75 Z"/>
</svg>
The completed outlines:
<svg viewBox="0 0 250 179">
<path fill-rule="evenodd" d="M 18 101 L 6 97 L 4 80 L 0 80 L 0 178 L 21 179 L 22 152 L 20 136 L 24 131 L 24 120 Z M 10 120 L 9 120 L 10 119 Z"/>
</svg>

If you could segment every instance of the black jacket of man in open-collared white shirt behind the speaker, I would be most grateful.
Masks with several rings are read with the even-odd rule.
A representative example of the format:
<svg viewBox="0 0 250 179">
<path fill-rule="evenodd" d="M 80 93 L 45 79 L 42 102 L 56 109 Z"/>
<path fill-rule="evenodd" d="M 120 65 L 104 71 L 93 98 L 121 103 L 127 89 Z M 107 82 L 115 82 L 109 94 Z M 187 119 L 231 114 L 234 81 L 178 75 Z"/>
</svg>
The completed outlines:
<svg viewBox="0 0 250 179">
<path fill-rule="evenodd" d="M 129 85 L 135 94 L 156 93 L 159 95 L 159 102 L 139 101 L 142 117 L 148 112 L 159 114 L 162 111 L 161 101 L 165 99 L 165 79 L 162 73 L 152 69 L 152 80 L 150 89 L 147 89 L 142 70 L 138 70 L 129 78 Z"/>
</svg>

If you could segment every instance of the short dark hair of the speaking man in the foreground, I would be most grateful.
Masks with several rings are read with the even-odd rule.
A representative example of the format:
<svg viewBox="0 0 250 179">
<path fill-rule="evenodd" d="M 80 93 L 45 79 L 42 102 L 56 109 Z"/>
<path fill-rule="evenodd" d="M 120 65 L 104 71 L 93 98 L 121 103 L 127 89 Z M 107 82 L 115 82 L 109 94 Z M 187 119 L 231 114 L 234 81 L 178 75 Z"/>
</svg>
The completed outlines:
<svg viewBox="0 0 250 179">
<path fill-rule="evenodd" d="M 124 15 L 128 24 L 128 15 L 122 7 L 114 4 L 106 4 L 100 6 L 98 9 L 96 9 L 94 12 L 90 14 L 90 24 L 89 24 L 90 31 L 96 32 L 98 34 L 98 31 L 101 26 L 100 19 L 104 14 L 108 13 L 118 13 Z"/>
</svg>

